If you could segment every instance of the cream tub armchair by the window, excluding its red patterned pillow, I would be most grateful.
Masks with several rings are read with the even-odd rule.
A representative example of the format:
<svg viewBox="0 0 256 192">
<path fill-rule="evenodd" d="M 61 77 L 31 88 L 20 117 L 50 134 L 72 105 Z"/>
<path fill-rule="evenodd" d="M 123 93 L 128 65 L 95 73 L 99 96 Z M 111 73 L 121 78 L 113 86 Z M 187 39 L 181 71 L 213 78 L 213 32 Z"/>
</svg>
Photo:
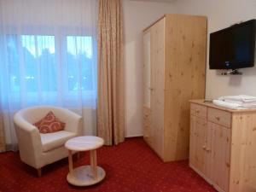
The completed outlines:
<svg viewBox="0 0 256 192">
<path fill-rule="evenodd" d="M 63 131 L 42 134 L 33 123 L 44 118 L 52 111 L 55 116 L 66 123 Z M 15 113 L 15 131 L 18 138 L 20 159 L 38 170 L 57 160 L 67 157 L 64 144 L 68 139 L 82 134 L 82 117 L 65 108 L 38 106 L 21 109 Z"/>
</svg>

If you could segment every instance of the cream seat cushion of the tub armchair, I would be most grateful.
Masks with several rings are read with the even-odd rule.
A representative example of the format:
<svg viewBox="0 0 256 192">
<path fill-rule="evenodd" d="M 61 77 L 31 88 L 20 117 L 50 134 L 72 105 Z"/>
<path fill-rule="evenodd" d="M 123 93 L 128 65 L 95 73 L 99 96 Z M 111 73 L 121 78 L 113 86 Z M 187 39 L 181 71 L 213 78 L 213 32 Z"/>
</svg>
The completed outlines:
<svg viewBox="0 0 256 192">
<path fill-rule="evenodd" d="M 76 137 L 76 134 L 70 131 L 56 131 L 52 133 L 40 133 L 42 148 L 44 152 L 63 146 L 68 139 Z"/>
</svg>

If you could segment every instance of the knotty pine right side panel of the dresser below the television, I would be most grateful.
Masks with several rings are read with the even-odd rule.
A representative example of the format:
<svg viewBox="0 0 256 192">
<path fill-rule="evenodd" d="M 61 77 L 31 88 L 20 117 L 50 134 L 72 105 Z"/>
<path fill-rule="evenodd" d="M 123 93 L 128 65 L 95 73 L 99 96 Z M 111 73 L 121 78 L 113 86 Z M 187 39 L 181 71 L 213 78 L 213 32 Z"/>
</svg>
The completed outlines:
<svg viewBox="0 0 256 192">
<path fill-rule="evenodd" d="M 256 191 L 256 113 L 234 113 L 232 119 L 230 192 Z"/>
</svg>

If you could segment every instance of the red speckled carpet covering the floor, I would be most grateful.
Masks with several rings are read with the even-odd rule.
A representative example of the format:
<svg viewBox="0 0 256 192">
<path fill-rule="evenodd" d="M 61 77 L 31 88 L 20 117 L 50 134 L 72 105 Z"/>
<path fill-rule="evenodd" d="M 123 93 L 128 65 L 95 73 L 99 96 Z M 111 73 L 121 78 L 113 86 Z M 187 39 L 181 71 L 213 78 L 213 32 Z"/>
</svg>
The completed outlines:
<svg viewBox="0 0 256 192">
<path fill-rule="evenodd" d="M 188 166 L 188 161 L 162 163 L 142 138 L 127 139 L 115 147 L 97 150 L 98 165 L 106 171 L 102 181 L 90 187 L 67 183 L 67 159 L 45 166 L 43 176 L 20 161 L 18 153 L 0 154 L 1 192 L 215 192 Z M 85 153 L 75 165 L 89 163 Z"/>
</svg>

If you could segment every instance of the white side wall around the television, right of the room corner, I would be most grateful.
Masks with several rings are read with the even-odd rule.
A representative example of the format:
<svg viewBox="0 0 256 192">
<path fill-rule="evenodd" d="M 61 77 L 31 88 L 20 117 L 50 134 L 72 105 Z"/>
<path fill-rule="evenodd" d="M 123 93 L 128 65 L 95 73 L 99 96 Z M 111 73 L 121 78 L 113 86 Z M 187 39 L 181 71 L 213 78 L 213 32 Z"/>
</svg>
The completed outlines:
<svg viewBox="0 0 256 192">
<path fill-rule="evenodd" d="M 180 14 L 207 15 L 208 32 L 256 19 L 255 0 L 177 0 L 174 5 L 175 12 Z M 209 70 L 207 62 L 207 99 L 236 94 L 256 96 L 256 67 L 241 72 L 241 76 L 221 76 L 218 71 Z"/>
</svg>

